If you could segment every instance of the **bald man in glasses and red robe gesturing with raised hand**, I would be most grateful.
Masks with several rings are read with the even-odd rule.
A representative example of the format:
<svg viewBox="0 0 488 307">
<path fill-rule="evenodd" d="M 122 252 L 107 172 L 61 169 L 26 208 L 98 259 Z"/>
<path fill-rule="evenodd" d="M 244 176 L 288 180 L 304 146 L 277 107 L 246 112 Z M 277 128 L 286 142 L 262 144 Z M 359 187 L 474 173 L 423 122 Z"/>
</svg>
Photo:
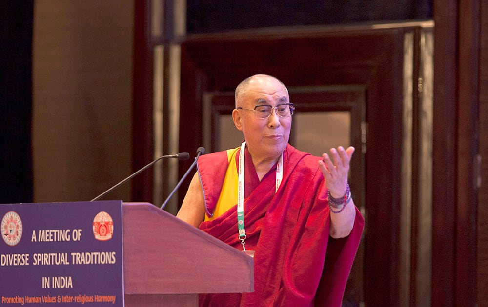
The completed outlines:
<svg viewBox="0 0 488 307">
<path fill-rule="evenodd" d="M 364 226 L 347 183 L 354 148 L 289 145 L 295 108 L 276 77 L 246 78 L 235 104 L 244 142 L 200 157 L 177 217 L 254 257 L 254 292 L 200 306 L 341 306 Z"/>
</svg>

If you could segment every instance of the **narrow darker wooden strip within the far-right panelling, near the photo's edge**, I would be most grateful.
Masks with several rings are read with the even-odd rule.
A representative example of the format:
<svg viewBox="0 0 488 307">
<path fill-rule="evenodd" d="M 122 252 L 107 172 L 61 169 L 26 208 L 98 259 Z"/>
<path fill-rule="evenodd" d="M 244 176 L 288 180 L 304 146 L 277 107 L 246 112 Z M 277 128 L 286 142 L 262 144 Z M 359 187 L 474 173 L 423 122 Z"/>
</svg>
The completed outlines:
<svg viewBox="0 0 488 307">
<path fill-rule="evenodd" d="M 459 5 L 459 54 L 457 97 L 457 165 L 456 178 L 456 269 L 455 305 L 476 302 L 476 211 L 477 187 L 474 168 L 478 153 L 479 129 L 479 25 L 478 1 Z"/>
</svg>

